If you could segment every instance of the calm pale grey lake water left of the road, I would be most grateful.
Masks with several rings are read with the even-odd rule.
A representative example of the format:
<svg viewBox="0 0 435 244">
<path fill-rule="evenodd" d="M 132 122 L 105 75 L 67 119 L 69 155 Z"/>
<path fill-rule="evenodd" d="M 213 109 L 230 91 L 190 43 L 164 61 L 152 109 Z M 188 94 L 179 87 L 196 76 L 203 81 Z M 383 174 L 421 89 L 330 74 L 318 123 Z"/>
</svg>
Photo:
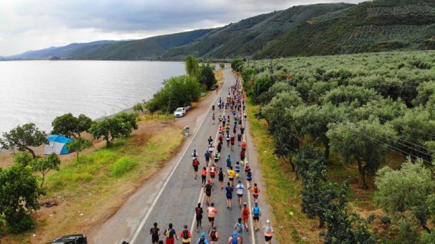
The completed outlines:
<svg viewBox="0 0 435 244">
<path fill-rule="evenodd" d="M 182 62 L 0 62 L 0 132 L 29 122 L 49 132 L 53 119 L 65 113 L 112 115 L 184 73 Z"/>
</svg>

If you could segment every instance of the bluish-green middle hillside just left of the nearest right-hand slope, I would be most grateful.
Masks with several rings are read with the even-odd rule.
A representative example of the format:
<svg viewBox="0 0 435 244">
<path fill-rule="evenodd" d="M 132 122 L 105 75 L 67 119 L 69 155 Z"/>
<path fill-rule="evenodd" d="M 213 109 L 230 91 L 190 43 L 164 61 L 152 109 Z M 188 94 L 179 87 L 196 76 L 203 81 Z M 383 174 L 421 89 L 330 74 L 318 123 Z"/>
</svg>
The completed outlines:
<svg viewBox="0 0 435 244">
<path fill-rule="evenodd" d="M 204 58 L 252 56 L 263 50 L 269 42 L 305 21 L 352 6 L 354 5 L 316 4 L 258 15 L 218 28 L 196 42 L 169 50 L 163 57 L 184 58 L 189 54 Z"/>
</svg>

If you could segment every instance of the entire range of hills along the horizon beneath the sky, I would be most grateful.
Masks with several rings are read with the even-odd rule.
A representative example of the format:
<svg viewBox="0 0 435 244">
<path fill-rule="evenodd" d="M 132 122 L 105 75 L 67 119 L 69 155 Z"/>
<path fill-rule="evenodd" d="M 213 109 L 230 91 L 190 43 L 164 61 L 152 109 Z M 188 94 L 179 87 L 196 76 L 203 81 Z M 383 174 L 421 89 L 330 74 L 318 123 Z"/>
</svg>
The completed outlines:
<svg viewBox="0 0 435 244">
<path fill-rule="evenodd" d="M 434 0 L 315 4 L 141 40 L 73 43 L 2 59 L 206 59 L 435 49 Z"/>
</svg>

